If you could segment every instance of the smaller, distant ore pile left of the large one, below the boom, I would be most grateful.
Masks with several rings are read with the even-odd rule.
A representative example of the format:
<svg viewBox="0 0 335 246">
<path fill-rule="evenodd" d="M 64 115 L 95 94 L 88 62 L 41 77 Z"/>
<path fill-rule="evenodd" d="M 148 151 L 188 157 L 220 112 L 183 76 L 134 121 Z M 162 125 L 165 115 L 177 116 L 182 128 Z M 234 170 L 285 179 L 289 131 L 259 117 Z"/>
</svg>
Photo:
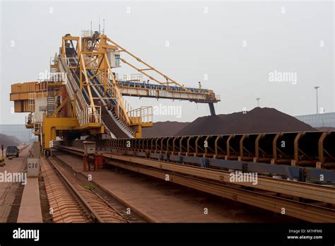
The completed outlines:
<svg viewBox="0 0 335 246">
<path fill-rule="evenodd" d="M 186 127 L 189 122 L 155 122 L 153 127 L 143 128 L 142 136 L 176 136 L 175 134 Z"/>
</svg>

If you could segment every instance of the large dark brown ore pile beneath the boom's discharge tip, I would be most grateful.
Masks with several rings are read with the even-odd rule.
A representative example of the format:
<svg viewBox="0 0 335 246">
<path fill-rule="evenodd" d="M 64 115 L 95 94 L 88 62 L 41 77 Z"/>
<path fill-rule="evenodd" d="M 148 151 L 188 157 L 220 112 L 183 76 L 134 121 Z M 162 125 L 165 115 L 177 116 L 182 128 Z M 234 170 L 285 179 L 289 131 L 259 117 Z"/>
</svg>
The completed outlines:
<svg viewBox="0 0 335 246">
<path fill-rule="evenodd" d="M 255 107 L 230 115 L 199 117 L 176 135 L 255 134 L 290 131 L 317 131 L 309 124 L 274 108 Z"/>
</svg>

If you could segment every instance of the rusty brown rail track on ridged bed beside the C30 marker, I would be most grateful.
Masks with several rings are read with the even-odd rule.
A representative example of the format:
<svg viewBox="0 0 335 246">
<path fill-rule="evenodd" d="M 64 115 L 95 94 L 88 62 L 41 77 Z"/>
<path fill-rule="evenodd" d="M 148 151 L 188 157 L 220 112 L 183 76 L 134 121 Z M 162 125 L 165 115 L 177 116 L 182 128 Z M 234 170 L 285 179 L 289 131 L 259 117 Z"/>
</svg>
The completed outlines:
<svg viewBox="0 0 335 246">
<path fill-rule="evenodd" d="M 57 165 L 53 158 L 42 158 L 42 174 L 54 222 L 128 222 L 105 199 L 90 187 L 84 187 L 66 168 Z"/>
</svg>

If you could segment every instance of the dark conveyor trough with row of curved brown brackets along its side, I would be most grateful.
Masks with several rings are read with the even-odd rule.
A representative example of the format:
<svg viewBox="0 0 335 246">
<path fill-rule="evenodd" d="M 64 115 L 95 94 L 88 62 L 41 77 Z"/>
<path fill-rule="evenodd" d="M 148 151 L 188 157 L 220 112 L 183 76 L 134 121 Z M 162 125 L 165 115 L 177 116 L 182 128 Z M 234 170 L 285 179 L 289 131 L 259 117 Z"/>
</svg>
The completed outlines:
<svg viewBox="0 0 335 246">
<path fill-rule="evenodd" d="M 335 168 L 335 131 L 105 139 L 97 144 L 100 148 L 184 156 L 184 160 L 201 157 L 293 167 Z"/>
</svg>

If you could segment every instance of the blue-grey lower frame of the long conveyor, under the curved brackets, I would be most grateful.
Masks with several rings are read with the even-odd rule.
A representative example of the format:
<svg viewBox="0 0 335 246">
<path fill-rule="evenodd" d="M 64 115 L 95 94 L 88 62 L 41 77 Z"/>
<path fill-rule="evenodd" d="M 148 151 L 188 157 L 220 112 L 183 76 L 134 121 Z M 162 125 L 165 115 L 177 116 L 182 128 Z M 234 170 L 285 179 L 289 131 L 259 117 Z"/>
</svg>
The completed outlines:
<svg viewBox="0 0 335 246">
<path fill-rule="evenodd" d="M 155 138 L 156 140 L 159 138 Z M 177 139 L 177 137 L 175 138 Z M 306 168 L 297 165 L 284 165 L 274 163 L 257 163 L 246 160 L 228 160 L 227 158 L 214 158 L 204 156 L 189 156 L 188 153 L 173 153 L 170 151 L 156 151 L 148 148 L 131 148 L 131 141 L 141 142 L 143 139 L 103 139 L 97 142 L 100 151 L 124 154 L 127 156 L 137 156 L 153 160 L 163 160 L 171 163 L 189 164 L 201 166 L 202 168 L 212 168 L 220 170 L 238 170 L 241 172 L 256 172 L 259 175 L 279 176 L 288 180 L 298 180 L 301 182 L 317 182 L 322 185 L 335 184 L 335 172 L 331 169 Z M 147 141 L 148 143 L 152 141 Z M 157 142 L 157 141 L 156 141 Z M 127 147 L 119 147 L 120 144 L 127 144 Z M 74 141 L 74 146 L 83 148 L 83 141 Z M 71 147 L 69 147 L 71 148 Z"/>
</svg>

